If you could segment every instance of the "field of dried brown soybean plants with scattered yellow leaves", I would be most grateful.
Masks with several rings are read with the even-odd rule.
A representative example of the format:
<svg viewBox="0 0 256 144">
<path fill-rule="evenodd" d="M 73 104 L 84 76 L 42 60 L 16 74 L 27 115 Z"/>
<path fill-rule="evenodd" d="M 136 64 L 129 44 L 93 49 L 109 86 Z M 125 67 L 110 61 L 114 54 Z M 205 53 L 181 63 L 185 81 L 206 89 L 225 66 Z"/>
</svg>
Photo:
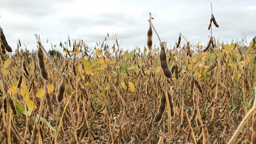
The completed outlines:
<svg viewBox="0 0 256 144">
<path fill-rule="evenodd" d="M 209 19 L 206 46 L 180 33 L 168 47 L 150 14 L 132 51 L 109 34 L 94 50 L 68 37 L 47 52 L 39 35 L 36 52 L 15 50 L 0 27 L 0 143 L 256 144 L 256 37 L 221 42 Z"/>
</svg>

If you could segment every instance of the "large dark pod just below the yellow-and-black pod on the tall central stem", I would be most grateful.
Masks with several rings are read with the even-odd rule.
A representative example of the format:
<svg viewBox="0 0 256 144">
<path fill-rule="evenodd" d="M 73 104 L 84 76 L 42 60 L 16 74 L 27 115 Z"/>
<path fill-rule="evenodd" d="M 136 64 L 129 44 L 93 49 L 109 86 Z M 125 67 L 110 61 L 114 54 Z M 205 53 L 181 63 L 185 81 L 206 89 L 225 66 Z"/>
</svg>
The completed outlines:
<svg viewBox="0 0 256 144">
<path fill-rule="evenodd" d="M 164 50 L 164 43 L 161 43 L 161 51 L 160 51 L 160 62 L 161 62 L 161 67 L 164 71 L 164 75 L 167 78 L 172 78 L 172 73 L 168 68 L 167 62 L 166 62 L 166 53 Z"/>
</svg>

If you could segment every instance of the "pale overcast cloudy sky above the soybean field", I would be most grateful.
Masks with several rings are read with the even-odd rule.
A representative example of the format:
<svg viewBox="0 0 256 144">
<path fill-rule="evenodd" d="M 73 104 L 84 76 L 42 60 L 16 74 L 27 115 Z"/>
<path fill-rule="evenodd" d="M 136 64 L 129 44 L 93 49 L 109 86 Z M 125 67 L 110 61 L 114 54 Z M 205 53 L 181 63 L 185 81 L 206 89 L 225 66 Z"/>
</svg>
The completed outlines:
<svg viewBox="0 0 256 144">
<path fill-rule="evenodd" d="M 213 35 L 220 40 L 231 42 L 241 39 L 245 32 L 248 42 L 256 35 L 255 0 L 185 0 L 185 1 L 148 1 L 148 0 L 0 0 L 0 26 L 9 45 L 15 49 L 20 39 L 22 48 L 36 49 L 34 33 L 40 34 L 46 48 L 47 38 L 57 45 L 79 35 L 90 48 L 96 41 L 104 40 L 107 33 L 118 33 L 124 49 L 134 46 L 143 47 L 147 42 L 149 12 L 160 38 L 173 46 L 179 33 L 191 43 L 208 42 L 207 30 L 213 14 L 219 28 L 213 27 Z M 113 38 L 108 38 L 111 46 Z M 153 45 L 159 44 L 153 33 Z M 69 48 L 72 50 L 72 48 Z"/>
</svg>

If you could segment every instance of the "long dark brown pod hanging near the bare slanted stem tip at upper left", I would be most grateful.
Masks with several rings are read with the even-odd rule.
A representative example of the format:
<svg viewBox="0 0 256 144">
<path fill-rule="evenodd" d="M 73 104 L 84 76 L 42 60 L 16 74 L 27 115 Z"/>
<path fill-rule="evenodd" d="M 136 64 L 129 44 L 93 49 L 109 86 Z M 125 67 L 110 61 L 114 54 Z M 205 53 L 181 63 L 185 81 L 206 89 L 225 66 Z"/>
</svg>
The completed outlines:
<svg viewBox="0 0 256 144">
<path fill-rule="evenodd" d="M 48 72 L 45 68 L 45 63 L 44 63 L 44 52 L 43 52 L 41 46 L 39 46 L 38 50 L 37 50 L 37 59 L 38 59 L 39 67 L 41 70 L 41 75 L 43 76 L 43 78 L 45 80 L 49 80 Z"/>
</svg>

